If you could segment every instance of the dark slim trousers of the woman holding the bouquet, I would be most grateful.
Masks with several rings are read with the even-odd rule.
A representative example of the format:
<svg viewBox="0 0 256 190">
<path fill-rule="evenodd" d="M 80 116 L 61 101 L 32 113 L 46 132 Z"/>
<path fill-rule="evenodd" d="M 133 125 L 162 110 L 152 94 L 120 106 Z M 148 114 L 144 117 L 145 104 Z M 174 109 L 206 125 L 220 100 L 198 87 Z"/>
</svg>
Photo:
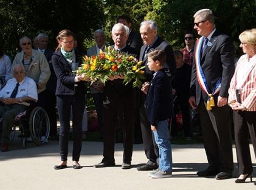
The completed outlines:
<svg viewBox="0 0 256 190">
<path fill-rule="evenodd" d="M 57 96 L 57 108 L 60 118 L 60 156 L 61 161 L 67 160 L 70 117 L 72 106 L 72 129 L 73 129 L 73 154 L 72 160 L 79 161 L 82 133 L 81 123 L 83 119 L 83 112 L 85 110 L 85 95 L 78 96 Z"/>
</svg>

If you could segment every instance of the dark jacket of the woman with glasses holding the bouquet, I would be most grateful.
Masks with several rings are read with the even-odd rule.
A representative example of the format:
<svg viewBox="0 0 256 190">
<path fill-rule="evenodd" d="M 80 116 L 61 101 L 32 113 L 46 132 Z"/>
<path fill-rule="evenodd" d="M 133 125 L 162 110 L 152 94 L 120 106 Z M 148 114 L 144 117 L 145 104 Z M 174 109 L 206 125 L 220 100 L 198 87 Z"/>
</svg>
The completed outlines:
<svg viewBox="0 0 256 190">
<path fill-rule="evenodd" d="M 81 64 L 77 51 L 75 51 L 75 60 L 79 61 L 78 67 Z M 67 62 L 66 58 L 58 50 L 52 55 L 52 65 L 57 76 L 56 95 L 70 95 L 75 93 L 85 95 L 86 86 L 84 81 L 74 82 L 75 75 L 72 73 L 71 65 Z"/>
</svg>

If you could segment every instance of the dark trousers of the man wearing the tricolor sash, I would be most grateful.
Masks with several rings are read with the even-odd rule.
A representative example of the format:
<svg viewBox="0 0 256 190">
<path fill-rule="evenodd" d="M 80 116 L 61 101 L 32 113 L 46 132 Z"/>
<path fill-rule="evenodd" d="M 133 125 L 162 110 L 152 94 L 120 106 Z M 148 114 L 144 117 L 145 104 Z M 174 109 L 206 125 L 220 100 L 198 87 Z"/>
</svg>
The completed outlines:
<svg viewBox="0 0 256 190">
<path fill-rule="evenodd" d="M 216 171 L 232 172 L 234 166 L 229 106 L 216 105 L 217 102 L 212 110 L 207 111 L 206 103 L 201 99 L 198 106 L 204 148 L 210 168 Z"/>
</svg>

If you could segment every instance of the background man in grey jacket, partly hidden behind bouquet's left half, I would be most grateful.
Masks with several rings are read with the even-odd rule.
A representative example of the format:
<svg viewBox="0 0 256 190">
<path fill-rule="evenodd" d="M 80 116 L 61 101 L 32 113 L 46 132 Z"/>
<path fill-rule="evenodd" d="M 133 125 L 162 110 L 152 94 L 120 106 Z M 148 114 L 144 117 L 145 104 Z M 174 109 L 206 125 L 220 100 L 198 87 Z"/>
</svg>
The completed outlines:
<svg viewBox="0 0 256 190">
<path fill-rule="evenodd" d="M 94 39 L 96 44 L 87 50 L 87 56 L 98 55 L 99 51 L 105 51 L 105 32 L 102 29 L 94 31 Z M 100 82 L 94 82 L 91 87 L 91 94 L 94 100 L 95 109 L 97 111 L 98 123 L 100 128 L 101 137 L 103 137 L 103 122 L 102 122 L 102 106 L 103 106 L 103 87 L 104 85 Z"/>
</svg>

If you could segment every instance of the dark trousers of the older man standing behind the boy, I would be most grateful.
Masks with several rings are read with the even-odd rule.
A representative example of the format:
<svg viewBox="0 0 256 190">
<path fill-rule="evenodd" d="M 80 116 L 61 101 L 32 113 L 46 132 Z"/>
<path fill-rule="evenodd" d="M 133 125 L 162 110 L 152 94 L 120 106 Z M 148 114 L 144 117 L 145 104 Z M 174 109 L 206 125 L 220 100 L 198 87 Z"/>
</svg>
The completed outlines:
<svg viewBox="0 0 256 190">
<path fill-rule="evenodd" d="M 150 122 L 146 113 L 146 102 L 140 106 L 140 126 L 142 131 L 142 139 L 144 143 L 145 154 L 148 159 L 148 165 L 154 165 L 159 162 L 158 146 L 154 140 L 153 131 L 151 131 Z"/>
</svg>

